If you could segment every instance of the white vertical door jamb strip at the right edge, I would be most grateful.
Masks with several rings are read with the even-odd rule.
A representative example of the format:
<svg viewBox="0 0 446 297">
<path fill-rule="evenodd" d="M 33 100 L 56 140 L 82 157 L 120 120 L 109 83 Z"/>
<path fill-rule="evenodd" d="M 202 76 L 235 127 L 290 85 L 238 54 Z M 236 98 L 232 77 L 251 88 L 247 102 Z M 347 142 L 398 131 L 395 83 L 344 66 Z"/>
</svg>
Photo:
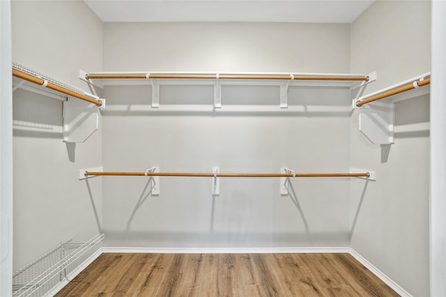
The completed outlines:
<svg viewBox="0 0 446 297">
<path fill-rule="evenodd" d="M 446 3 L 432 2 L 431 296 L 446 295 Z"/>
</svg>

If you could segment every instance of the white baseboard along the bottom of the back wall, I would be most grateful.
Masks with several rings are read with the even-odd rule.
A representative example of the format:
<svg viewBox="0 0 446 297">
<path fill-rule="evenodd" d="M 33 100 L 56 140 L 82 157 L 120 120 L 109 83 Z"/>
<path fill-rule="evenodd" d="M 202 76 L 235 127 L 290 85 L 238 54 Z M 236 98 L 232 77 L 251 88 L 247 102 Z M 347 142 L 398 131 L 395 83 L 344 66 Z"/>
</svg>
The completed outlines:
<svg viewBox="0 0 446 297">
<path fill-rule="evenodd" d="M 102 248 L 102 252 L 148 254 L 304 254 L 348 253 L 350 248 Z"/>
</svg>

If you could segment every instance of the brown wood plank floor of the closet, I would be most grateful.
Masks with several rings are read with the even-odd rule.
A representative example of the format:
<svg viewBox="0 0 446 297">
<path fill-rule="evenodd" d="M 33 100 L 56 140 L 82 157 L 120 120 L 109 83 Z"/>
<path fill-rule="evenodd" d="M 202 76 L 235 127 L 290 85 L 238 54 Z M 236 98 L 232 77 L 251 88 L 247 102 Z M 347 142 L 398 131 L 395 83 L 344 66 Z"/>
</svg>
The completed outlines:
<svg viewBox="0 0 446 297">
<path fill-rule="evenodd" d="M 101 254 L 56 296 L 399 296 L 350 254 Z"/>
</svg>

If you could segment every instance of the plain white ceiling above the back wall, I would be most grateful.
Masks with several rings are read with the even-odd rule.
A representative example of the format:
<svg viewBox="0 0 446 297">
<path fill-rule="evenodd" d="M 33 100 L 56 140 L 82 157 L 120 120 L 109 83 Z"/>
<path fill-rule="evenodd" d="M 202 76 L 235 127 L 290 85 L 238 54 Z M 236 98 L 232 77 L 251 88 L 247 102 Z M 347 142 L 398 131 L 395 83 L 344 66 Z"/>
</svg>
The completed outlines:
<svg viewBox="0 0 446 297">
<path fill-rule="evenodd" d="M 84 0 L 103 22 L 351 23 L 374 0 Z"/>
</svg>

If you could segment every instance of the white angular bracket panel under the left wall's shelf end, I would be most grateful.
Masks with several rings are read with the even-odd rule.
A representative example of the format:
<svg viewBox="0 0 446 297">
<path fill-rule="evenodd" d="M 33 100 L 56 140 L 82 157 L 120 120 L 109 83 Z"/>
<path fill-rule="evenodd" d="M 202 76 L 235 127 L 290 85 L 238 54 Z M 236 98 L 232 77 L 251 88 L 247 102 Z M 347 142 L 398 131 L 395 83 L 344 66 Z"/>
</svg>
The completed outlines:
<svg viewBox="0 0 446 297">
<path fill-rule="evenodd" d="M 68 96 L 63 102 L 63 142 L 85 142 L 99 128 L 98 114 L 97 105 Z"/>
</svg>

